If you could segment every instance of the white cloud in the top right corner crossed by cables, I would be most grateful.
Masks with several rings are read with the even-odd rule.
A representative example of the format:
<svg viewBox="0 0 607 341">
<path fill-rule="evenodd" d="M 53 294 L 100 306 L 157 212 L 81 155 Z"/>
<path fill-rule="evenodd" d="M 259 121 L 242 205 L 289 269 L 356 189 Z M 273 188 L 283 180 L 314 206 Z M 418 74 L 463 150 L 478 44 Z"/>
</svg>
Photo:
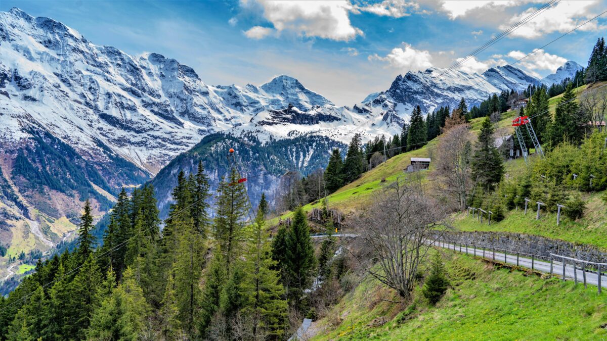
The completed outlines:
<svg viewBox="0 0 607 341">
<path fill-rule="evenodd" d="M 569 32 L 602 12 L 603 9 L 604 2 L 601 1 L 561 1 L 540 15 L 535 16 L 531 21 L 512 32 L 510 36 L 533 39 L 552 32 Z M 527 8 L 524 12 L 510 18 L 507 24 L 500 25 L 500 29 L 507 29 L 510 25 L 535 12 L 535 10 L 537 10 L 535 7 Z M 607 25 L 600 25 L 599 22 L 594 20 L 577 30 L 605 31 Z"/>
</svg>

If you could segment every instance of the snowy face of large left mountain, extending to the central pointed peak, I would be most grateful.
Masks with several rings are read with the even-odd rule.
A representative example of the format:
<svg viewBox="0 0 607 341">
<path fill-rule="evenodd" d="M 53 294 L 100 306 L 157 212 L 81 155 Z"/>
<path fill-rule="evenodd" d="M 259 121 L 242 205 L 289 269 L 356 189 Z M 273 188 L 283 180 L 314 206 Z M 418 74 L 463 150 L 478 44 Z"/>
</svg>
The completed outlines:
<svg viewBox="0 0 607 341">
<path fill-rule="evenodd" d="M 1 13 L 0 30 L 2 101 L 12 107 L 2 118 L 5 136 L 27 137 L 15 125 L 26 112 L 29 123 L 88 154 L 100 154 L 95 137 L 151 172 L 208 133 L 263 110 L 331 104 L 288 76 L 261 87 L 207 86 L 175 59 L 95 46 L 60 22 L 16 8 Z"/>
</svg>

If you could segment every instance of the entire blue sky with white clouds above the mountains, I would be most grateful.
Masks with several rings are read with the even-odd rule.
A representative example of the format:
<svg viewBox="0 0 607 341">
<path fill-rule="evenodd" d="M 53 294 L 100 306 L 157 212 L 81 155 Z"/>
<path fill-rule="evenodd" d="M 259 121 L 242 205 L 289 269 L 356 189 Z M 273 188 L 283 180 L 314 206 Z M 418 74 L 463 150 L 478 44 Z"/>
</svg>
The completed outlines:
<svg viewBox="0 0 607 341">
<path fill-rule="evenodd" d="M 193 67 L 208 84 L 260 85 L 286 74 L 339 105 L 385 90 L 396 75 L 447 67 L 545 1 L 11 1 L 98 45 L 157 52 Z M 515 61 L 607 9 L 607 1 L 561 1 L 462 69 Z M 595 19 L 517 67 L 546 76 L 566 60 L 585 66 L 607 32 Z"/>
</svg>

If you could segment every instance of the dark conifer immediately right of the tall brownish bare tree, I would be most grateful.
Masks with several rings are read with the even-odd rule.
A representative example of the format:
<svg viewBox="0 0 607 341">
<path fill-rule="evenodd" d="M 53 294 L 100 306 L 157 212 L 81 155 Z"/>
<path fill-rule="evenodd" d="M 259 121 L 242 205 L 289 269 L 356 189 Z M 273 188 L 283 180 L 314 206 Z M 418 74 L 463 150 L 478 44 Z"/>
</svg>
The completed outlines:
<svg viewBox="0 0 607 341">
<path fill-rule="evenodd" d="M 494 131 L 489 117 L 485 118 L 472 157 L 472 178 L 485 191 L 493 191 L 495 184 L 499 183 L 504 175 L 502 157 L 493 145 Z"/>
</svg>

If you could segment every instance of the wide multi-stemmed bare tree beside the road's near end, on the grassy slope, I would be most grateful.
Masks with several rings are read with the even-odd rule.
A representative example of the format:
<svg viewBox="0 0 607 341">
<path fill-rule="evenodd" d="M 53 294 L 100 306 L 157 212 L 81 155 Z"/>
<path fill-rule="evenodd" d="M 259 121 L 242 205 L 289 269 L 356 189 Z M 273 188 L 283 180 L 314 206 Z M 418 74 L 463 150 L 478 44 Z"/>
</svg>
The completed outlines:
<svg viewBox="0 0 607 341">
<path fill-rule="evenodd" d="M 418 266 L 446 226 L 446 212 L 427 195 L 421 178 L 399 178 L 358 217 L 359 237 L 371 249 L 362 269 L 404 299 L 411 298 Z"/>
</svg>

